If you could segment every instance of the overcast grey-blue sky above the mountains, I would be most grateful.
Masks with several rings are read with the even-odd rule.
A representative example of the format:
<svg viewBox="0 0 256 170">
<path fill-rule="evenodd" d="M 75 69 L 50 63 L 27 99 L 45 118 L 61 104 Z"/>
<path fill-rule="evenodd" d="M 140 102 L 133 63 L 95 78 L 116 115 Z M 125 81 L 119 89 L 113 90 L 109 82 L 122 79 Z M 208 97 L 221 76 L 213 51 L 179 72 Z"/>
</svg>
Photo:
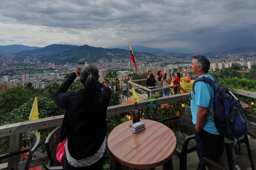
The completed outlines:
<svg viewBox="0 0 256 170">
<path fill-rule="evenodd" d="M 255 0 L 1 0 L 0 45 L 51 44 L 205 52 L 255 45 Z"/>
</svg>

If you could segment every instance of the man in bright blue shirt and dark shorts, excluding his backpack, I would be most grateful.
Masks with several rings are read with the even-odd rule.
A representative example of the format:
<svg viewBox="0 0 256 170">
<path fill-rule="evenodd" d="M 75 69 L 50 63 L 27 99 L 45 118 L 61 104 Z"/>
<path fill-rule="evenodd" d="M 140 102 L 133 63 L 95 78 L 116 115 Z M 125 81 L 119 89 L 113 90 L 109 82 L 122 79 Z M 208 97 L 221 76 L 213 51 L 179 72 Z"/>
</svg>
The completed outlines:
<svg viewBox="0 0 256 170">
<path fill-rule="evenodd" d="M 210 69 L 209 60 L 203 55 L 193 56 L 190 65 L 192 72 L 198 78 L 206 77 L 214 81 L 212 75 L 208 73 Z M 206 82 L 198 81 L 194 85 L 194 92 L 191 96 L 191 113 L 195 125 L 195 140 L 197 143 L 198 157 L 210 158 L 222 166 L 225 166 L 222 154 L 224 150 L 223 136 L 217 131 L 215 123 L 212 121 L 214 89 Z M 211 167 L 209 167 L 211 169 Z"/>
</svg>

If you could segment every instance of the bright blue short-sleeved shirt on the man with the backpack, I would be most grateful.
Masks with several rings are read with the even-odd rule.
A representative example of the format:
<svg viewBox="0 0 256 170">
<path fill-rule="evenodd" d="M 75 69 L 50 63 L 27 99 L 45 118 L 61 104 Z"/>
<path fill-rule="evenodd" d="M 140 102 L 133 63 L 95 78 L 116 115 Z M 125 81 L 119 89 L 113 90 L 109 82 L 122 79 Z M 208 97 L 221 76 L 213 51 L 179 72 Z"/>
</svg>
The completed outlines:
<svg viewBox="0 0 256 170">
<path fill-rule="evenodd" d="M 201 77 L 208 77 L 214 81 L 214 79 L 210 74 L 201 75 L 199 78 Z M 209 83 L 198 81 L 195 84 L 195 94 L 196 95 L 194 95 L 193 91 L 190 92 L 191 113 L 192 113 L 194 124 L 196 124 L 198 106 L 207 107 L 209 111 L 213 113 L 213 100 L 212 100 L 214 96 L 213 87 Z M 212 122 L 212 116 L 209 113 L 207 114 L 207 118 L 206 118 L 203 130 L 212 134 L 217 134 L 217 135 L 220 134 L 216 129 L 215 123 Z"/>
</svg>

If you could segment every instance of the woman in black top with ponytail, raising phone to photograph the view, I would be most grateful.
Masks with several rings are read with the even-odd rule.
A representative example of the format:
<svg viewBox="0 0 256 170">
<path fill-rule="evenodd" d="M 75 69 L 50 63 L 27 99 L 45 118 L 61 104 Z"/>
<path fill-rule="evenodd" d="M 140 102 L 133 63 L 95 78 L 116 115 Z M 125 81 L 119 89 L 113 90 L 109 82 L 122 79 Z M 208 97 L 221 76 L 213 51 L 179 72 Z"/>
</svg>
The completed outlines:
<svg viewBox="0 0 256 170">
<path fill-rule="evenodd" d="M 99 71 L 91 64 L 81 71 L 82 89 L 67 92 L 78 76 L 76 69 L 54 94 L 55 103 L 66 110 L 60 133 L 60 141 L 66 139 L 62 166 L 65 170 L 103 169 L 111 91 L 98 82 Z"/>
</svg>

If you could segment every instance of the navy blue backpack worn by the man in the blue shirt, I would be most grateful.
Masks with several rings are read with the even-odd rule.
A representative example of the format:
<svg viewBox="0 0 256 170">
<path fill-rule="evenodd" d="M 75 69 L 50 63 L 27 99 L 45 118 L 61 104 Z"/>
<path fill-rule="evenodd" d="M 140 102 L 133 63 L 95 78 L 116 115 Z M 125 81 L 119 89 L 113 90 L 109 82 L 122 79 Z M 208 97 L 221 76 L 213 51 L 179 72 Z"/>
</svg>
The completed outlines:
<svg viewBox="0 0 256 170">
<path fill-rule="evenodd" d="M 206 77 L 197 78 L 193 82 L 192 90 L 195 94 L 197 81 L 211 84 L 214 89 L 214 114 L 210 113 L 213 117 L 212 121 L 214 121 L 218 132 L 223 137 L 234 140 L 235 145 L 237 139 L 247 133 L 245 110 L 227 86 L 222 86 L 215 77 L 213 79 L 215 82 Z"/>
</svg>

